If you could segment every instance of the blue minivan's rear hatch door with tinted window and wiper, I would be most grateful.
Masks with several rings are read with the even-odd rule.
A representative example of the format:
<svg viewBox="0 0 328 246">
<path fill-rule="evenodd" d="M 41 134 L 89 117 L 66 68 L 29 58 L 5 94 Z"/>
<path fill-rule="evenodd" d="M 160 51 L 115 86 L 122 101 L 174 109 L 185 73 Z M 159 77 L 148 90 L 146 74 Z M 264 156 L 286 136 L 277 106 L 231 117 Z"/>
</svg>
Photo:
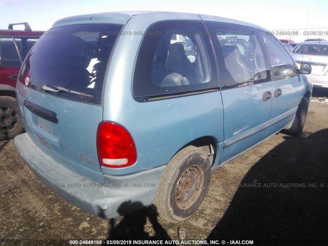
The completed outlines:
<svg viewBox="0 0 328 246">
<path fill-rule="evenodd" d="M 122 25 L 81 24 L 51 29 L 27 56 L 17 83 L 20 113 L 37 147 L 71 170 L 102 181 L 97 128 L 103 86 Z"/>
</svg>

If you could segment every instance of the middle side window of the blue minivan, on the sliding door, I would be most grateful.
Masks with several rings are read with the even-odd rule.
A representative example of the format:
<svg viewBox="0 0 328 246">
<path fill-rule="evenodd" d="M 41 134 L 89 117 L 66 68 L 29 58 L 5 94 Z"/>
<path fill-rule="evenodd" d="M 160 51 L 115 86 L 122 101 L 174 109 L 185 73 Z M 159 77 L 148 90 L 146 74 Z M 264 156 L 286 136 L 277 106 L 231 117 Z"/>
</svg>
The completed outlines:
<svg viewBox="0 0 328 246">
<path fill-rule="evenodd" d="M 221 89 L 270 81 L 270 66 L 256 29 L 206 23 L 218 59 Z"/>
</svg>

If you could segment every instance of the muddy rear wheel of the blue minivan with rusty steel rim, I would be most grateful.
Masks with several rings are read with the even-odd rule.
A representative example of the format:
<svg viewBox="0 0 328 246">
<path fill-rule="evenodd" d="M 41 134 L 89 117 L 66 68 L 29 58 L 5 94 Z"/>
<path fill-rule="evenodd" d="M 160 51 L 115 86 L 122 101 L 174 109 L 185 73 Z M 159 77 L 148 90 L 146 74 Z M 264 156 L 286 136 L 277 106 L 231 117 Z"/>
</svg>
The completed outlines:
<svg viewBox="0 0 328 246">
<path fill-rule="evenodd" d="M 200 206 L 209 187 L 211 165 L 207 154 L 194 146 L 179 151 L 163 173 L 154 204 L 168 222 L 190 217 Z"/>
</svg>

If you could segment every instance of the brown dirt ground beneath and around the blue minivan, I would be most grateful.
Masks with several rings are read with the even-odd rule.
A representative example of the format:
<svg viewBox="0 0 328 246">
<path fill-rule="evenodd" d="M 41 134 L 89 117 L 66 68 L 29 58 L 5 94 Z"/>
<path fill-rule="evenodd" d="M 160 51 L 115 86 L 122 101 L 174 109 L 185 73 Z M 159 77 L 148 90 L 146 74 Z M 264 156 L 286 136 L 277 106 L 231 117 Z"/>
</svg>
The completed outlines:
<svg viewBox="0 0 328 246">
<path fill-rule="evenodd" d="M 328 90 L 314 90 L 312 99 L 320 97 L 327 99 Z M 0 245 L 70 245 L 71 239 L 179 240 L 178 228 L 186 230 L 189 240 L 324 245 L 327 147 L 328 102 L 312 101 L 300 137 L 276 134 L 213 171 L 211 187 L 196 214 L 172 224 L 158 218 L 152 208 L 110 220 L 93 217 L 43 185 L 20 158 L 13 140 L 3 141 Z"/>
</svg>

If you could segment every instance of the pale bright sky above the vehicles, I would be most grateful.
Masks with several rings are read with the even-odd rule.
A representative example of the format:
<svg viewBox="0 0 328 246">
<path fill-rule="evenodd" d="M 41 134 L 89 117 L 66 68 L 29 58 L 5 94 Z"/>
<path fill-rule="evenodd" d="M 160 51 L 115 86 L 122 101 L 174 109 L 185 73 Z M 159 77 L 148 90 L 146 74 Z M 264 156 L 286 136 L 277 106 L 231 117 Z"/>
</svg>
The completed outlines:
<svg viewBox="0 0 328 246">
<path fill-rule="evenodd" d="M 0 29 L 9 23 L 28 22 L 32 30 L 48 30 L 64 17 L 122 10 L 174 11 L 217 15 L 243 20 L 268 30 L 299 32 L 292 39 L 297 42 L 308 37 L 328 35 L 305 35 L 304 31 L 321 31 L 328 34 L 328 1 L 275 0 L 0 0 Z M 305 33 L 306 34 L 306 33 Z M 276 35 L 289 38 L 288 35 Z"/>
</svg>

